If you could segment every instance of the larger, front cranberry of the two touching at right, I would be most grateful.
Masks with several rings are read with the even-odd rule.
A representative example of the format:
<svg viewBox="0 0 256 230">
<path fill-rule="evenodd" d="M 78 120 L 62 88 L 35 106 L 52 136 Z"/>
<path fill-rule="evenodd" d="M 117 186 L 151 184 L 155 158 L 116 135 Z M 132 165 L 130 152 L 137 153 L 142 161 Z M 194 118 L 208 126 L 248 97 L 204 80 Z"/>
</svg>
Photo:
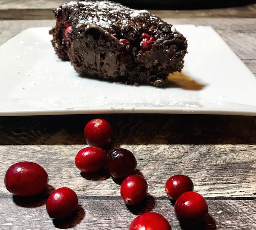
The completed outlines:
<svg viewBox="0 0 256 230">
<path fill-rule="evenodd" d="M 199 224 L 207 218 L 208 206 L 203 196 L 196 192 L 186 192 L 177 198 L 175 216 L 184 225 Z"/>
</svg>

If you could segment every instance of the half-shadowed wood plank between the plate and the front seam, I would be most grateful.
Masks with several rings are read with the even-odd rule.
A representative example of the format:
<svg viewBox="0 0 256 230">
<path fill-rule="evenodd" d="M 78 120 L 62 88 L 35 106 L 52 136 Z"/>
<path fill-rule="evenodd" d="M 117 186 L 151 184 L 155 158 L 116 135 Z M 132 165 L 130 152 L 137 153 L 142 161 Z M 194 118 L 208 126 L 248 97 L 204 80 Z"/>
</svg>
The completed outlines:
<svg viewBox="0 0 256 230">
<path fill-rule="evenodd" d="M 205 197 L 255 197 L 255 117 L 102 116 L 115 132 L 110 150 L 122 147 L 134 153 L 151 196 L 165 196 L 167 179 L 185 174 Z M 107 170 L 81 175 L 74 165 L 76 153 L 87 146 L 83 128 L 91 118 L 95 115 L 0 117 L 0 181 L 10 165 L 35 161 L 47 170 L 54 188 L 67 186 L 87 196 L 119 196 L 119 184 Z M 7 190 L 0 187 L 0 193 Z"/>
</svg>

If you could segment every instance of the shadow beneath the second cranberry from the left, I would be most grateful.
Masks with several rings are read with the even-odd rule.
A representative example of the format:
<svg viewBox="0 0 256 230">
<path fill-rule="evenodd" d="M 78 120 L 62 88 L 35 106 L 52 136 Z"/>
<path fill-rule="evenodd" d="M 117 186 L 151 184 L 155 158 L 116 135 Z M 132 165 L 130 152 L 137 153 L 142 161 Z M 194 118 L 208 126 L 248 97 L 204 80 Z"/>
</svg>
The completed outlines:
<svg viewBox="0 0 256 230">
<path fill-rule="evenodd" d="M 61 218 L 61 219 L 53 219 L 52 222 L 55 227 L 66 229 L 66 228 L 75 227 L 77 224 L 79 224 L 82 221 L 82 219 L 84 219 L 84 216 L 85 216 L 84 209 L 79 204 L 78 207 L 76 208 L 76 211 L 71 216 Z"/>
</svg>

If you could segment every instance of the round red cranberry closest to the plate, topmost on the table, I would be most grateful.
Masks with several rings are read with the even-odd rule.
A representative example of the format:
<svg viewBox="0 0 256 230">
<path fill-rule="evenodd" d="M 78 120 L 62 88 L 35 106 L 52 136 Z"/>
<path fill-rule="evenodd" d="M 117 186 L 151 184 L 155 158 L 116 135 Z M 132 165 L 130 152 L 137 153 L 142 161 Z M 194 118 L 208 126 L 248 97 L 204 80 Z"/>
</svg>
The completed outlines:
<svg viewBox="0 0 256 230">
<path fill-rule="evenodd" d="M 113 141 L 113 129 L 108 121 L 93 119 L 84 127 L 84 138 L 90 146 L 107 147 Z"/>
</svg>

